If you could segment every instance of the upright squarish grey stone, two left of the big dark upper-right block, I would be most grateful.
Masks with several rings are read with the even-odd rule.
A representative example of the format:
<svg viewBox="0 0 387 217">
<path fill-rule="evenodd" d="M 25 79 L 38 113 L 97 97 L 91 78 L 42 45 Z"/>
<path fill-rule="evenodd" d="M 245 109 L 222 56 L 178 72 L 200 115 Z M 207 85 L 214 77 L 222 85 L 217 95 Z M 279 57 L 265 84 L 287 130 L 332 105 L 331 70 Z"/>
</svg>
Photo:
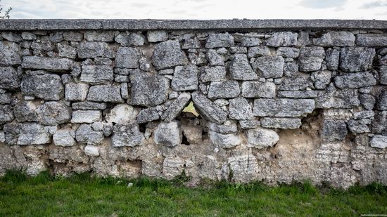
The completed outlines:
<svg viewBox="0 0 387 217">
<path fill-rule="evenodd" d="M 312 72 L 320 70 L 322 61 L 325 58 L 325 51 L 322 47 L 300 48 L 298 65 L 301 72 Z"/>
</svg>

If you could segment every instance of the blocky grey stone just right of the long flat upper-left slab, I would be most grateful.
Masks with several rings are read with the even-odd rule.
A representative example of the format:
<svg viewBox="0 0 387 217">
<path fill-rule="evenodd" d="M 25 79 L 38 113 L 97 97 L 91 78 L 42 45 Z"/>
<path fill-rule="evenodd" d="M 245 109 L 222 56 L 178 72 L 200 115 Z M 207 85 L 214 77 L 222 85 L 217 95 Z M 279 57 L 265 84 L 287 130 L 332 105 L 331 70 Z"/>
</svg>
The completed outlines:
<svg viewBox="0 0 387 217">
<path fill-rule="evenodd" d="M 82 65 L 80 80 L 85 83 L 108 84 L 113 79 L 113 67 L 108 65 Z"/>
</svg>

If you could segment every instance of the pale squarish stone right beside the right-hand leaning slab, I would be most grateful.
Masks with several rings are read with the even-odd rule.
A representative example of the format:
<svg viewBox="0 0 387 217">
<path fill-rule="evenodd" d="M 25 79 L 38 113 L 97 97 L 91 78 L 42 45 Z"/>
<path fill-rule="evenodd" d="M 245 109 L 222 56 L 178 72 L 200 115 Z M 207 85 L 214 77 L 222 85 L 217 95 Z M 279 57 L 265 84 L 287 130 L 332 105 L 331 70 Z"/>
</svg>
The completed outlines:
<svg viewBox="0 0 387 217">
<path fill-rule="evenodd" d="M 229 100 L 230 119 L 246 120 L 253 119 L 253 111 L 245 98 L 239 97 Z"/>
</svg>

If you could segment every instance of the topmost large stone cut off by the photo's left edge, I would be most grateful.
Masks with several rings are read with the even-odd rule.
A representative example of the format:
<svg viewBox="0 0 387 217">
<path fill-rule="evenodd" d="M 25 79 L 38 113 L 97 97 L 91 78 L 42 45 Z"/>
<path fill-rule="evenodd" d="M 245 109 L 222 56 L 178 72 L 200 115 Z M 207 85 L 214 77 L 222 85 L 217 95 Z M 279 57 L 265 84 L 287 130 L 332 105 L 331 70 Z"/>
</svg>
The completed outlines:
<svg viewBox="0 0 387 217">
<path fill-rule="evenodd" d="M 20 46 L 13 42 L 0 41 L 0 65 L 19 65 L 21 63 Z"/>
</svg>

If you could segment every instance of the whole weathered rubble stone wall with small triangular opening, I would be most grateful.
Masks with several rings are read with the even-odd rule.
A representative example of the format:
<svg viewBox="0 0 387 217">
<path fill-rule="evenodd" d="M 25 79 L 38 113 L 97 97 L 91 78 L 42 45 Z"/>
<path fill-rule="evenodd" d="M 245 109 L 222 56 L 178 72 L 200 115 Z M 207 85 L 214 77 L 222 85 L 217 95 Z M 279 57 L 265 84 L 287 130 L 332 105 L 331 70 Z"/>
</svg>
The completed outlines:
<svg viewBox="0 0 387 217">
<path fill-rule="evenodd" d="M 237 21 L 1 21 L 0 173 L 387 184 L 387 23 Z"/>
</svg>

